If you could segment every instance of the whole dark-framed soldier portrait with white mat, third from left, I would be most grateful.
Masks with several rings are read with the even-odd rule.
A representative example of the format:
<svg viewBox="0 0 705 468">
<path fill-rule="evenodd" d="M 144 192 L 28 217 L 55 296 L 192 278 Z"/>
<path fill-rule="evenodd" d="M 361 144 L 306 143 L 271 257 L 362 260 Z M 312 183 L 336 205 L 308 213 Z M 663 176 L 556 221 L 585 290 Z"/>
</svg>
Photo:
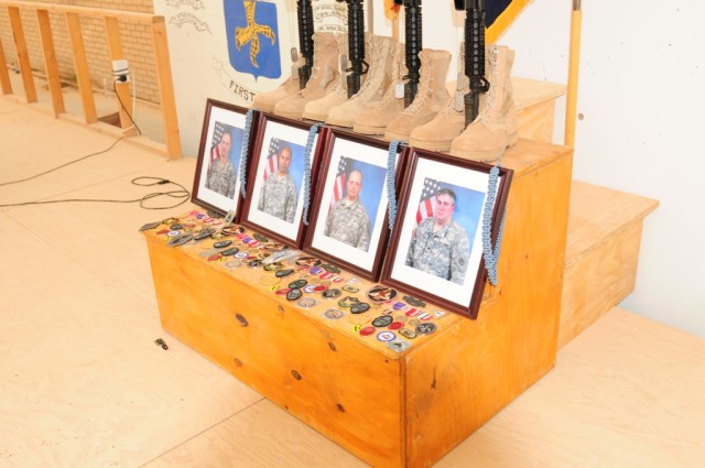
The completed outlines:
<svg viewBox="0 0 705 468">
<path fill-rule="evenodd" d="M 405 148 L 393 156 L 398 184 Z M 389 143 L 328 129 L 304 249 L 377 281 L 389 237 Z"/>
</svg>

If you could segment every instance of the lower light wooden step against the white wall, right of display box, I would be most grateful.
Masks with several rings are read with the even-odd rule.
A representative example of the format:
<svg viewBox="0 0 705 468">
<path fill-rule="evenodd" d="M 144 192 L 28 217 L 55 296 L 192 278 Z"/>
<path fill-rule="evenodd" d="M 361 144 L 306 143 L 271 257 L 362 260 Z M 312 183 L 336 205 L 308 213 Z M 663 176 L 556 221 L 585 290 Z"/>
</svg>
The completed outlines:
<svg viewBox="0 0 705 468">
<path fill-rule="evenodd" d="M 659 202 L 573 181 L 558 347 L 634 289 L 643 219 Z"/>
</svg>

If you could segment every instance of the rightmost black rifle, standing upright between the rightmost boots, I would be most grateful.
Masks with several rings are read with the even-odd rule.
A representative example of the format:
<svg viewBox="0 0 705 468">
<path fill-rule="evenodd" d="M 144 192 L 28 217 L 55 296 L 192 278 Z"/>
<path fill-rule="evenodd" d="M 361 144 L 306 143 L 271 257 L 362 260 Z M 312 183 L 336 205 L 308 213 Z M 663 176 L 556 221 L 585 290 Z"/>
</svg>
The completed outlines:
<svg viewBox="0 0 705 468">
<path fill-rule="evenodd" d="M 456 10 L 465 10 L 465 75 L 470 91 L 465 95 L 465 126 L 479 113 L 480 92 L 489 90 L 485 78 L 485 0 L 455 0 Z"/>
</svg>

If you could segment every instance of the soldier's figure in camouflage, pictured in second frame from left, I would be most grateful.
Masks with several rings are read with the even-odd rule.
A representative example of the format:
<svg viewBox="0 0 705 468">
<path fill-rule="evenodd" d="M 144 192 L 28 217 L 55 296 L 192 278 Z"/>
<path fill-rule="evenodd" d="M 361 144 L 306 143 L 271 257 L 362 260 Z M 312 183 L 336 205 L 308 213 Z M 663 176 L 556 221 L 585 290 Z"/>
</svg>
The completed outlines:
<svg viewBox="0 0 705 468">
<path fill-rule="evenodd" d="M 294 222 L 296 184 L 289 173 L 290 165 L 291 148 L 284 146 L 276 155 L 276 174 L 270 174 L 262 185 L 257 209 L 286 222 Z"/>
</svg>

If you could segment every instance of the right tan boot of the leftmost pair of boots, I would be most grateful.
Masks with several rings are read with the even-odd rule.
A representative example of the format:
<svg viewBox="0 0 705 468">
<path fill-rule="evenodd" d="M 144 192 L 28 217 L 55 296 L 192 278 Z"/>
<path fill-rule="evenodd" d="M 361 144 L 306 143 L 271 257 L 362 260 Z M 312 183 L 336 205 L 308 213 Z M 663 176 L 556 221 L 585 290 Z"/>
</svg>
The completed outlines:
<svg viewBox="0 0 705 468">
<path fill-rule="evenodd" d="M 301 119 L 306 104 L 330 91 L 339 79 L 336 35 L 317 32 L 313 35 L 313 70 L 306 87 L 274 105 L 274 113 L 289 119 Z"/>
</svg>

